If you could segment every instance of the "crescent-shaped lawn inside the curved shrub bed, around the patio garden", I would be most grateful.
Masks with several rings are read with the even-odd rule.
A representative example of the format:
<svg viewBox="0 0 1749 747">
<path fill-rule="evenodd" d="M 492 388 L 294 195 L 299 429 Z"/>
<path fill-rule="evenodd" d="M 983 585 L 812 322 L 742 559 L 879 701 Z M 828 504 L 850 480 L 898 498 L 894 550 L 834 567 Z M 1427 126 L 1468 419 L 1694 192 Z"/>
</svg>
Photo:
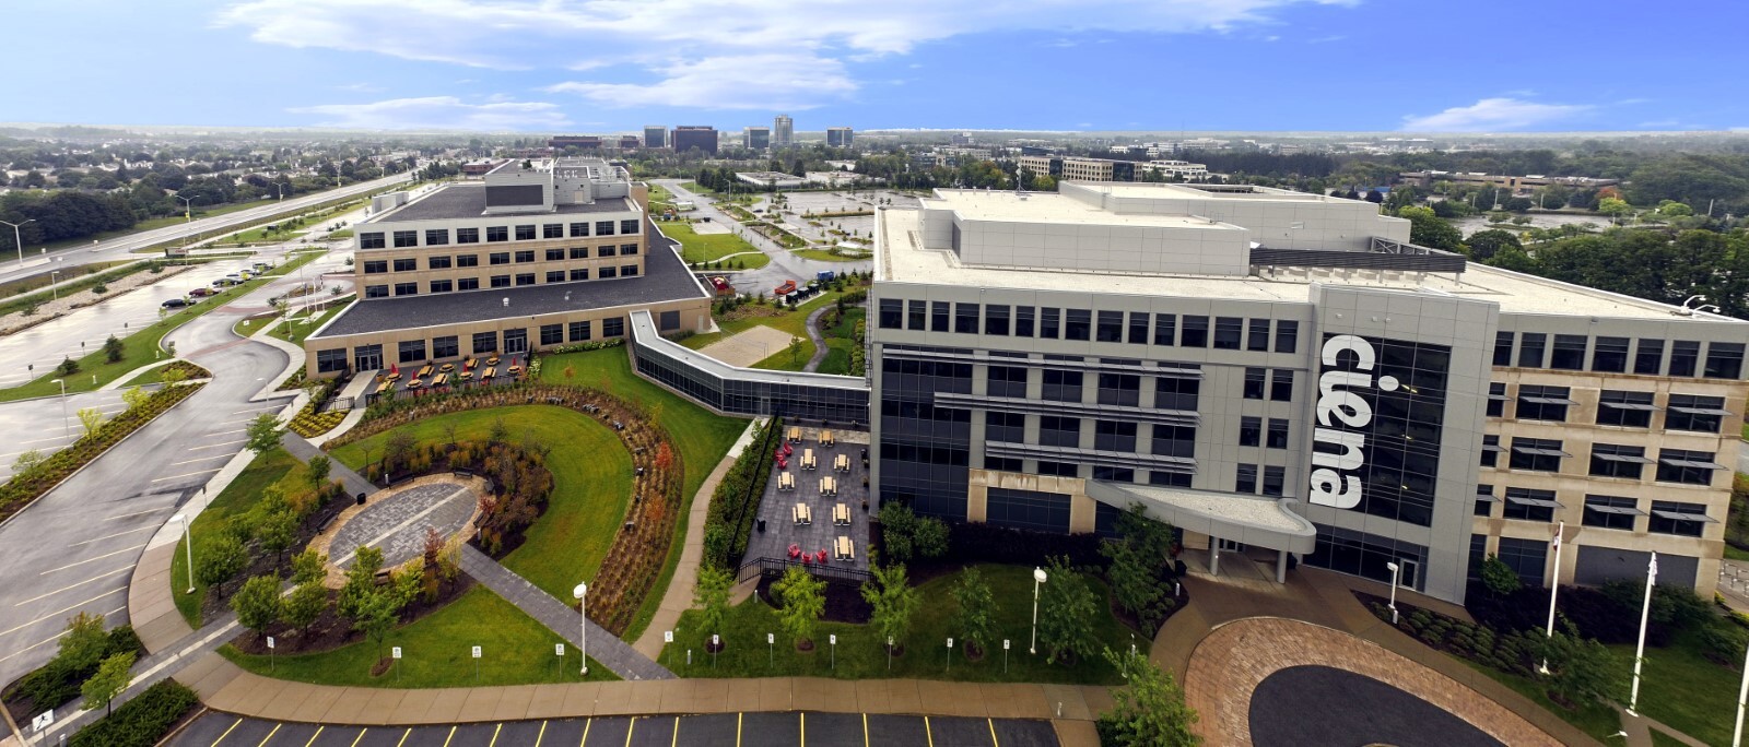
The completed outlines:
<svg viewBox="0 0 1749 747">
<path fill-rule="evenodd" d="M 504 559 L 504 565 L 558 599 L 570 599 L 581 579 L 595 578 L 626 518 L 631 501 L 631 456 L 607 426 L 581 412 L 551 407 L 495 407 L 429 417 L 371 438 L 334 449 L 334 459 L 362 469 L 366 452 L 381 457 L 390 433 L 413 435 L 420 445 L 444 443 L 446 426 L 456 440 L 483 442 L 495 421 L 504 419 L 511 438 L 533 438 L 553 447 L 553 496 L 528 539 Z"/>
</svg>

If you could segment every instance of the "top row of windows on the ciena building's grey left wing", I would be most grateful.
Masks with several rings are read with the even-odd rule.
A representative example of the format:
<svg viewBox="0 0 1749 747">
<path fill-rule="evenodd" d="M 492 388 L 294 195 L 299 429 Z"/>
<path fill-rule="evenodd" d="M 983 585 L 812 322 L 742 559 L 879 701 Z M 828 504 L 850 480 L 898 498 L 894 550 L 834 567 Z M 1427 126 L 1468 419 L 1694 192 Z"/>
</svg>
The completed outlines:
<svg viewBox="0 0 1749 747">
<path fill-rule="evenodd" d="M 1214 347 L 1221 351 L 1294 353 L 1300 347 L 1298 321 L 1238 316 L 1216 316 L 1210 335 L 1209 318 L 1193 314 L 1184 314 L 1181 319 L 1177 314 L 1149 314 L 1146 311 L 1093 312 L 1049 305 L 881 298 L 878 323 L 883 330 Z"/>
</svg>

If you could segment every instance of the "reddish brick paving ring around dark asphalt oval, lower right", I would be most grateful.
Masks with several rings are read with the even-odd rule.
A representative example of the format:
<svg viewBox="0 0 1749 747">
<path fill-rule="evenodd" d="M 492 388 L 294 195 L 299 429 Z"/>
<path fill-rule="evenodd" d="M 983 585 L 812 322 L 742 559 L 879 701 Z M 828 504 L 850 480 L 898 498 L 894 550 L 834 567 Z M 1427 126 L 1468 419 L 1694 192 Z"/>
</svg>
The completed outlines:
<svg viewBox="0 0 1749 747">
<path fill-rule="evenodd" d="M 1209 745 L 1560 744 L 1445 674 L 1298 620 L 1217 627 L 1191 653 L 1184 691 Z"/>
</svg>

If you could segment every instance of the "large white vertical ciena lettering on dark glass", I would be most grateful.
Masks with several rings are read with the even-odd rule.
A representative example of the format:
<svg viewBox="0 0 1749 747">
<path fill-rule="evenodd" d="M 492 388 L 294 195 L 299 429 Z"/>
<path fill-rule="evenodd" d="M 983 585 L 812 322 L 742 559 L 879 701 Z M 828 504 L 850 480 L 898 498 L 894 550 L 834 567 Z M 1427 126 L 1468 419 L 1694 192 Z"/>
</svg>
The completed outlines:
<svg viewBox="0 0 1749 747">
<path fill-rule="evenodd" d="M 1361 478 L 1350 475 L 1366 464 L 1366 433 L 1359 431 L 1373 422 L 1373 407 L 1359 394 L 1361 389 L 1373 387 L 1373 365 L 1378 353 L 1373 344 L 1355 335 L 1336 335 L 1324 342 L 1324 365 L 1343 365 L 1343 353 L 1348 353 L 1347 365 L 1352 370 L 1331 370 L 1317 380 L 1317 422 L 1312 440 L 1338 447 L 1334 454 L 1312 452 L 1312 490 L 1308 499 L 1319 506 L 1354 508 L 1361 504 Z M 1396 377 L 1380 377 L 1378 387 L 1396 391 Z"/>
</svg>

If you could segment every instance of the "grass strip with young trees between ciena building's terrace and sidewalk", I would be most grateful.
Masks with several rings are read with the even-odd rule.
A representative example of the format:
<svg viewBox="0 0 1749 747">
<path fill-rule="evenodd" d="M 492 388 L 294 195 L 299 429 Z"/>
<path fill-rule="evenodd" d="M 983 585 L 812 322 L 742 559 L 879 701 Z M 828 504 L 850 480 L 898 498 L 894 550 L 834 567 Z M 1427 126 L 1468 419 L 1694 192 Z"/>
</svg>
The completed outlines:
<svg viewBox="0 0 1749 747">
<path fill-rule="evenodd" d="M 1042 654 L 1027 653 L 1027 635 L 1032 614 L 1032 569 L 1021 565 L 979 565 L 990 592 L 1000 604 L 997 614 L 999 635 L 1013 641 L 1007 653 L 1007 672 L 1002 672 L 1002 642 L 986 646 L 981 661 L 967 661 L 964 648 L 953 651 L 953 667 L 948 670 L 946 641 L 955 635 L 953 618 L 958 604 L 950 590 L 958 583 L 958 574 L 930 579 L 918 586 L 923 606 L 911 621 L 911 637 L 906 642 L 904 656 L 892 660 L 887 668 L 883 641 L 868 625 L 820 623 L 815 630 L 815 649 L 798 653 L 778 625 L 777 611 L 759 599 L 731 607 L 722 623 L 722 639 L 728 648 L 717 654 L 715 667 L 705 653 L 708 630 L 696 630 L 698 611 L 680 616 L 675 642 L 663 648 L 659 661 L 682 677 L 838 677 L 838 679 L 953 679 L 972 682 L 1084 682 L 1084 684 L 1121 684 L 1116 670 L 1104 656 L 1086 656 L 1076 667 L 1048 665 Z M 1105 599 L 1105 585 L 1088 579 L 1093 593 Z M 775 651 L 766 644 L 766 634 L 777 634 Z M 833 668 L 833 651 L 829 635 L 838 635 L 838 665 Z M 1100 616 L 1093 625 L 1095 637 L 1112 649 L 1149 646 L 1149 641 L 1133 634 L 1111 614 Z M 686 665 L 686 651 L 693 649 L 693 665 Z M 775 661 L 773 661 L 775 660 Z"/>
</svg>

